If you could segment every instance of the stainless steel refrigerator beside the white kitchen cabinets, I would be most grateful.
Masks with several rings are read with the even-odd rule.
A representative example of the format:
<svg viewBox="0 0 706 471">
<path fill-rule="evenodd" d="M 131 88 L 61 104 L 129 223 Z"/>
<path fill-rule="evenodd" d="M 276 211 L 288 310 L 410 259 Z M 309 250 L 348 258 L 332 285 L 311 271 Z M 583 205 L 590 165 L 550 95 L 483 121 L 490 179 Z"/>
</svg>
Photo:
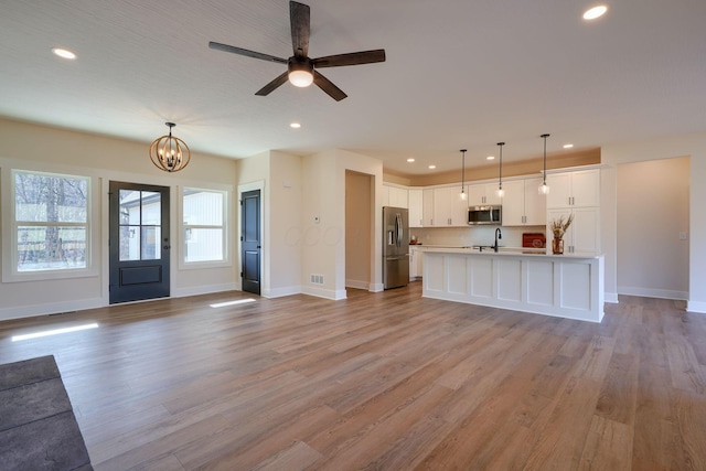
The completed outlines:
<svg viewBox="0 0 706 471">
<path fill-rule="evenodd" d="M 383 207 L 383 280 L 385 289 L 409 283 L 409 214 L 404 207 Z"/>
</svg>

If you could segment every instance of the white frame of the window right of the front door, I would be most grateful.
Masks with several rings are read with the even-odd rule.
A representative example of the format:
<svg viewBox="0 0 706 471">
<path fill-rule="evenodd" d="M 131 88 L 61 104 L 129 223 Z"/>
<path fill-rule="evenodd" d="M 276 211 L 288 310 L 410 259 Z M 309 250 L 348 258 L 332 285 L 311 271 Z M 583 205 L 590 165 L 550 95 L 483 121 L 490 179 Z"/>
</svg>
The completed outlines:
<svg viewBox="0 0 706 471">
<path fill-rule="evenodd" d="M 221 190 L 221 189 L 213 189 L 213 188 L 200 188 L 200 186 L 191 186 L 191 185 L 184 185 L 184 186 L 179 186 L 178 189 L 179 191 L 179 268 L 180 269 L 197 269 L 197 268 L 213 268 L 213 267 L 227 267 L 231 266 L 231 250 L 229 248 L 229 244 L 228 244 L 228 234 L 229 234 L 229 218 L 228 218 L 228 197 L 229 197 L 229 191 L 228 190 Z M 215 194 L 220 194 L 222 197 L 222 216 L 221 216 L 221 221 L 222 224 L 221 225 L 214 225 L 214 224 L 186 224 L 186 222 L 184 221 L 184 197 L 188 196 L 186 193 L 197 193 L 197 192 L 203 192 L 203 193 L 215 193 Z M 221 229 L 222 231 L 222 239 L 221 239 L 221 246 L 222 246 L 222 253 L 223 253 L 223 258 L 220 260 L 194 260 L 194 261 L 188 261 L 186 260 L 186 243 L 188 243 L 188 237 L 186 237 L 186 231 L 188 229 Z"/>
</svg>

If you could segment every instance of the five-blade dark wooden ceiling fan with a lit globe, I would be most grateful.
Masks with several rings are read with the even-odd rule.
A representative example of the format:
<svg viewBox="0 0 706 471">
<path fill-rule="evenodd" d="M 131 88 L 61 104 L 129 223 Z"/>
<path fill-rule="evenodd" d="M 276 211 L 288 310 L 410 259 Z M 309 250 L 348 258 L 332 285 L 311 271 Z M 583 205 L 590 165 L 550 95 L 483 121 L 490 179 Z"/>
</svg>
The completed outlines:
<svg viewBox="0 0 706 471">
<path fill-rule="evenodd" d="M 269 84 L 257 90 L 255 95 L 269 95 L 277 87 L 289 81 L 298 87 L 308 87 L 311 83 L 324 90 L 331 98 L 336 101 L 342 100 L 347 95 L 327 77 L 321 75 L 317 68 L 323 67 L 341 67 L 344 65 L 372 64 L 375 62 L 385 62 L 385 50 L 378 49 L 374 51 L 352 52 L 347 54 L 327 55 L 324 57 L 309 57 L 309 35 L 311 33 L 309 6 L 296 1 L 289 2 L 289 21 L 291 23 L 291 42 L 295 55 L 289 58 L 276 57 L 269 54 L 263 54 L 249 51 L 243 47 L 236 47 L 228 44 L 222 44 L 211 41 L 208 47 L 218 51 L 231 52 L 234 54 L 246 55 L 263 61 L 278 62 L 287 64 L 287 72 L 279 75 Z"/>
</svg>

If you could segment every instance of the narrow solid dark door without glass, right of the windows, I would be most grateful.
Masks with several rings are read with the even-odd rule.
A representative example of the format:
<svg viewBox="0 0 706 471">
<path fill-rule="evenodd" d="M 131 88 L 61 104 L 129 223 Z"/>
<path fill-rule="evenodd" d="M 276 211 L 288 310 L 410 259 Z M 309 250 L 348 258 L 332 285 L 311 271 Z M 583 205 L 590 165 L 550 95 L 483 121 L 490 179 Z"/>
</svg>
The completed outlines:
<svg viewBox="0 0 706 471">
<path fill-rule="evenodd" d="M 240 260 L 243 291 L 260 293 L 260 191 L 240 195 Z"/>
</svg>

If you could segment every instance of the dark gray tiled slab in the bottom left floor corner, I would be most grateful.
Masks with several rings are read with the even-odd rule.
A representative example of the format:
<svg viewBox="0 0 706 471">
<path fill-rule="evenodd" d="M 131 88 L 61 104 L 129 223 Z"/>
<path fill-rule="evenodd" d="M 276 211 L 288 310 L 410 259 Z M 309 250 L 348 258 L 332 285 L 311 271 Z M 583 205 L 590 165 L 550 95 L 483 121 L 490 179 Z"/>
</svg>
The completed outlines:
<svg viewBox="0 0 706 471">
<path fill-rule="evenodd" d="M 0 468 L 93 470 L 53 356 L 0 365 Z"/>
</svg>

